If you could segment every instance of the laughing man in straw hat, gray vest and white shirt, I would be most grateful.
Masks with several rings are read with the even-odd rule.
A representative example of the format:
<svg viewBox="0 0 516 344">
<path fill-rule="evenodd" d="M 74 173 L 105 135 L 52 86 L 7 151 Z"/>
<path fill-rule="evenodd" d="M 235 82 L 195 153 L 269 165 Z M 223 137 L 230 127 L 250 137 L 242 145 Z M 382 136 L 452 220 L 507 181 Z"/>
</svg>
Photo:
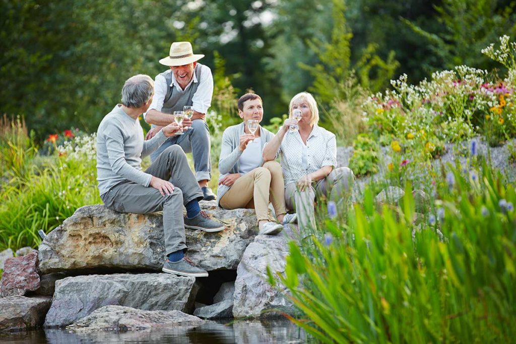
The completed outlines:
<svg viewBox="0 0 516 344">
<path fill-rule="evenodd" d="M 185 153 L 192 153 L 196 179 L 202 189 L 204 200 L 215 200 L 216 196 L 208 187 L 212 178 L 212 164 L 209 157 L 209 129 L 206 112 L 213 95 L 212 71 L 197 61 L 204 57 L 193 54 L 190 42 L 174 42 L 169 56 L 159 60 L 170 70 L 156 75 L 155 94 L 149 110 L 143 114 L 145 121 L 152 124 L 146 139 L 152 138 L 161 127 L 174 121 L 174 111 L 183 111 L 184 106 L 192 106 L 193 116 L 183 120 L 184 135 L 176 135 L 165 141 L 152 155 L 154 161 L 159 154 L 172 144 L 179 144 Z"/>
</svg>

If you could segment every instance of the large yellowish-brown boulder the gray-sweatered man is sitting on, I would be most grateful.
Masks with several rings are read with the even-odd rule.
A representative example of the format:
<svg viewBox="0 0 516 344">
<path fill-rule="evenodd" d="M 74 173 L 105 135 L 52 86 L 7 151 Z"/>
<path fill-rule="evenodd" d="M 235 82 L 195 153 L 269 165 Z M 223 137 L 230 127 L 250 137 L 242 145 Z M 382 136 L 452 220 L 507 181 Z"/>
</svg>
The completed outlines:
<svg viewBox="0 0 516 344">
<path fill-rule="evenodd" d="M 186 230 L 188 256 L 206 270 L 236 269 L 257 233 L 254 210 L 201 207 L 226 225 L 218 233 Z M 161 270 L 165 258 L 162 214 L 122 214 L 103 205 L 78 208 L 39 246 L 43 273 L 97 268 Z"/>
</svg>

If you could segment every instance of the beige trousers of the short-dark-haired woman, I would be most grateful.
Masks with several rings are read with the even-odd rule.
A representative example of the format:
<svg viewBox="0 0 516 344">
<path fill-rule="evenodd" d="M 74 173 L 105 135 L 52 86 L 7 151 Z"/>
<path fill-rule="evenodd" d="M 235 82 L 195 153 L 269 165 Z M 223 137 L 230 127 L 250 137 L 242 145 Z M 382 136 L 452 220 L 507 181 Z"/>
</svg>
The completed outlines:
<svg viewBox="0 0 516 344">
<path fill-rule="evenodd" d="M 286 214 L 284 193 L 285 184 L 280 164 L 277 161 L 267 161 L 262 167 L 236 179 L 219 204 L 224 209 L 255 209 L 258 221 L 268 221 L 269 201 L 276 216 Z"/>
</svg>

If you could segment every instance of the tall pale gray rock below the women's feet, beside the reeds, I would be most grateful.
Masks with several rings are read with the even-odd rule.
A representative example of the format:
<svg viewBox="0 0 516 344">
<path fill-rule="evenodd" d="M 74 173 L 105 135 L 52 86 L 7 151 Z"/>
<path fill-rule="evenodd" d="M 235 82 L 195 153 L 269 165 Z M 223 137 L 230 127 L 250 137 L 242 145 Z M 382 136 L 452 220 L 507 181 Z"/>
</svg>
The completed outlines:
<svg viewBox="0 0 516 344">
<path fill-rule="evenodd" d="M 288 238 L 284 233 L 259 235 L 244 252 L 235 281 L 235 318 L 278 316 L 277 312 L 264 312 L 266 310 L 295 314 L 294 305 L 284 296 L 286 287 L 279 287 L 278 290 L 267 282 L 267 266 L 273 273 L 285 271 Z"/>
</svg>

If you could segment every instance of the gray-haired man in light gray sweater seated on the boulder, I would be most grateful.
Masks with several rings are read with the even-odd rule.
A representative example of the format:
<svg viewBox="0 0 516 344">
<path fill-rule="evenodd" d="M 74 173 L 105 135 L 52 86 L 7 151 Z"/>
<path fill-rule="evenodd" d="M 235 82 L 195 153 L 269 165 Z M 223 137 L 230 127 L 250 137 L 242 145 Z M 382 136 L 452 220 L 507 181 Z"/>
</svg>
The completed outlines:
<svg viewBox="0 0 516 344">
<path fill-rule="evenodd" d="M 199 207 L 203 192 L 191 172 L 179 145 L 164 150 L 146 170 L 141 159 L 154 152 L 182 128 L 172 122 L 147 141 L 138 116 L 147 111 L 154 93 L 148 75 L 135 75 L 125 81 L 122 104 L 109 112 L 97 132 L 97 180 L 104 205 L 120 212 L 147 214 L 163 210 L 165 250 L 168 260 L 163 271 L 202 277 L 208 273 L 185 257 L 185 227 L 219 232 L 224 225 L 209 218 Z M 183 205 L 186 218 L 183 218 Z M 131 228 L 128 228 L 131 230 Z"/>
</svg>

